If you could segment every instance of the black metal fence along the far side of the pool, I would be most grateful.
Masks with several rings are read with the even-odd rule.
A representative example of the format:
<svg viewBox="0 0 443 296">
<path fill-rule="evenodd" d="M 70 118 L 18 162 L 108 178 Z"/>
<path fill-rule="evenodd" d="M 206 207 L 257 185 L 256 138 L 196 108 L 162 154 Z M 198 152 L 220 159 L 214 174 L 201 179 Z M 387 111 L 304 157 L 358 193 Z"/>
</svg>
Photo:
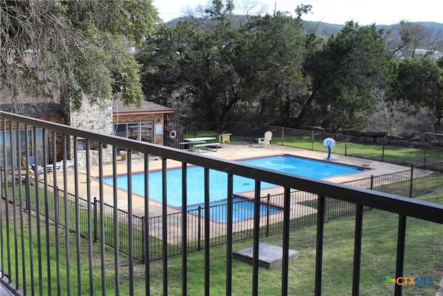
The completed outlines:
<svg viewBox="0 0 443 296">
<path fill-rule="evenodd" d="M 266 130 L 273 132 L 271 143 L 275 145 L 325 151 L 324 139 L 332 138 L 336 143 L 332 148 L 332 153 L 377 162 L 388 162 L 402 166 L 422 166 L 438 163 L 443 159 L 443 136 L 437 134 L 433 137 L 420 137 L 422 141 L 406 141 L 387 137 L 357 137 L 320 130 L 297 130 L 239 122 L 230 123 L 222 128 L 217 128 L 215 123 L 196 123 L 189 126 L 188 134 L 193 137 L 201 135 L 218 137 L 221 132 L 230 132 L 233 134 L 231 138 L 237 141 L 253 142 L 256 141 L 257 137 L 263 137 Z"/>
</svg>

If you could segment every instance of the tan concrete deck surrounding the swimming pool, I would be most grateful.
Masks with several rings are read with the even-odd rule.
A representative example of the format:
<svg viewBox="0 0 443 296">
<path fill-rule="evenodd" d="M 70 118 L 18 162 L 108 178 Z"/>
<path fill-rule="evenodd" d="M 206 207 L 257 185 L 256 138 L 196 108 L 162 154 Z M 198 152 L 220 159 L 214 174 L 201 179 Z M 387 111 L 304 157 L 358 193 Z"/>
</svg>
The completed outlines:
<svg viewBox="0 0 443 296">
<path fill-rule="evenodd" d="M 327 157 L 327 151 L 325 152 L 318 152 L 318 151 L 311 151 L 311 150 L 303 150 L 298 148 L 291 148 L 287 146 L 280 146 L 276 144 L 272 144 L 268 148 L 264 148 L 263 146 L 250 145 L 246 142 L 240 142 L 240 143 L 225 143 L 220 144 L 219 149 L 217 151 L 210 151 L 210 150 L 199 150 L 199 154 L 201 155 L 210 155 L 212 157 L 219 157 L 222 159 L 230 159 L 230 160 L 237 160 L 237 159 L 247 159 L 247 158 L 253 158 L 253 157 L 265 157 L 265 156 L 273 156 L 273 155 L 282 155 L 282 154 L 289 154 L 299 157 L 308 157 L 311 159 L 319 159 L 319 160 L 326 160 Z M 196 152 L 197 153 L 197 152 Z M 347 175 L 340 175 L 337 177 L 329 177 L 325 180 L 329 180 L 331 182 L 347 182 L 352 180 L 360 180 L 366 177 L 370 177 L 371 175 L 377 176 L 377 175 L 385 175 L 388 173 L 396 173 L 399 171 L 406 171 L 409 168 L 406 166 L 397 166 L 393 164 L 387 164 L 383 162 L 374 162 L 367 159 L 359 159 L 355 157 L 346 157 L 343 155 L 334 155 L 334 151 L 332 151 L 332 162 L 338 163 L 338 164 L 348 164 L 351 166 L 360 166 L 363 168 L 370 168 L 369 170 L 361 171 L 359 173 L 352 173 Z M 168 168 L 174 168 L 174 167 L 180 167 L 181 163 L 176 162 L 174 160 L 168 159 Z M 150 157 L 150 170 L 158 170 L 161 169 L 161 160 L 157 157 Z M 79 195 L 81 198 L 86 199 L 86 193 L 87 193 L 87 180 L 85 178 L 85 167 L 78 168 L 79 171 Z M 132 156 L 132 171 L 135 172 L 143 172 L 144 171 L 144 160 L 143 157 L 138 155 Z M 120 160 L 118 159 L 117 162 L 117 172 L 118 174 L 124 174 L 127 172 L 127 160 Z M 113 173 L 113 167 L 112 164 L 105 164 L 103 166 L 103 174 L 105 176 L 112 175 Z M 98 166 L 91 166 L 91 175 L 93 177 L 98 176 Z M 82 180 L 83 178 L 83 180 Z M 63 188 L 63 175 L 62 172 L 57 172 L 57 185 L 60 188 Z M 69 193 L 74 193 L 74 182 L 73 180 L 73 171 L 69 170 L 67 171 L 66 180 L 69 180 L 67 182 L 67 189 Z M 100 184 L 97 180 L 93 179 L 90 182 L 91 186 L 91 197 L 100 198 Z M 103 184 L 103 200 L 106 204 L 114 205 L 114 189 L 112 186 L 108 184 Z M 261 191 L 261 196 L 266 196 L 267 194 L 275 195 L 282 193 L 281 187 L 273 187 L 269 189 L 263 189 Z M 244 197 L 247 198 L 253 198 L 253 192 L 245 192 L 241 194 Z M 131 200 L 132 202 L 132 214 L 136 216 L 146 216 L 145 215 L 145 199 L 139 195 L 133 195 L 133 198 Z M 296 201 L 294 201 L 296 202 Z M 127 211 L 128 209 L 128 198 L 127 198 L 127 191 L 118 189 L 118 208 Z M 309 208 L 311 211 L 315 209 Z M 174 207 L 168 207 L 168 214 L 179 212 Z M 304 211 L 304 213 L 307 213 Z M 154 200 L 150 201 L 150 217 L 156 217 L 161 216 L 162 214 L 162 207 L 161 203 L 156 202 Z M 243 222 L 244 223 L 244 222 Z M 179 238 L 177 238 L 179 239 Z M 173 239 L 174 241 L 174 239 Z"/>
</svg>

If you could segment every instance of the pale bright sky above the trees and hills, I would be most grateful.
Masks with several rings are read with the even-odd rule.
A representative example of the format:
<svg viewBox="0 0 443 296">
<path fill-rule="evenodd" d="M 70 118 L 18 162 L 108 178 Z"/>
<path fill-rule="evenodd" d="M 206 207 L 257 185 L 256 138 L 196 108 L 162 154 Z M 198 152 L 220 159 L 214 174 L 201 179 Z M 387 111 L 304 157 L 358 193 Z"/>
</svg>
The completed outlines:
<svg viewBox="0 0 443 296">
<path fill-rule="evenodd" d="M 207 7 L 211 0 L 153 0 L 159 16 L 167 22 L 186 15 L 186 11 L 197 6 Z M 329 24 L 345 24 L 353 20 L 361 26 L 369 24 L 390 25 L 405 21 L 435 21 L 443 24 L 442 0 L 234 0 L 234 11 L 245 15 L 244 3 L 257 3 L 255 8 L 264 11 L 293 11 L 300 4 L 311 5 L 312 10 L 302 19 L 305 21 L 323 21 Z M 251 13 L 249 13 L 251 15 Z"/>
</svg>

